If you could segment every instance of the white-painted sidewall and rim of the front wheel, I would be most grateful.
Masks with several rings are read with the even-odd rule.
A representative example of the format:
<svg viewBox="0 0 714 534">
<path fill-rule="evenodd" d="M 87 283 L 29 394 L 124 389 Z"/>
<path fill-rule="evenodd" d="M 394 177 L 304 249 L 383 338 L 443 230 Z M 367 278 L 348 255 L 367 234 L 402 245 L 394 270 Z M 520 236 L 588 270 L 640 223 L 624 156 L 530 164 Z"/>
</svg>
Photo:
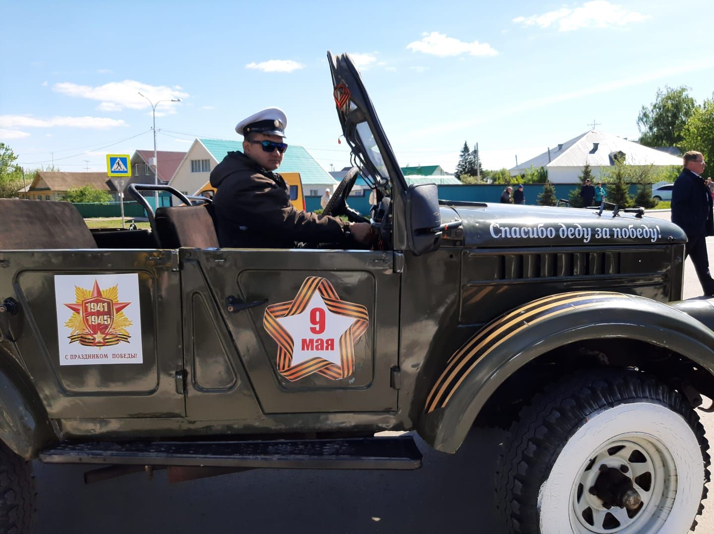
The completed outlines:
<svg viewBox="0 0 714 534">
<path fill-rule="evenodd" d="M 620 446 L 624 448 L 614 450 Z M 644 461 L 630 461 L 635 450 Z M 588 470 L 593 458 L 595 463 Z M 643 505 L 632 517 L 624 508 L 606 510 L 598 506 L 602 501 L 588 492 L 600 464 L 619 468 L 623 461 L 628 471 L 637 473 L 635 478 L 645 472 L 651 475 L 649 485 L 640 479 L 634 486 Z M 540 487 L 540 532 L 649 534 L 665 527 L 667 532 L 687 532 L 697 513 L 703 485 L 698 439 L 679 414 L 655 402 L 600 409 L 588 416 L 565 443 Z M 592 524 L 582 515 L 588 506 L 593 510 Z M 605 522 L 608 513 L 614 520 Z"/>
</svg>

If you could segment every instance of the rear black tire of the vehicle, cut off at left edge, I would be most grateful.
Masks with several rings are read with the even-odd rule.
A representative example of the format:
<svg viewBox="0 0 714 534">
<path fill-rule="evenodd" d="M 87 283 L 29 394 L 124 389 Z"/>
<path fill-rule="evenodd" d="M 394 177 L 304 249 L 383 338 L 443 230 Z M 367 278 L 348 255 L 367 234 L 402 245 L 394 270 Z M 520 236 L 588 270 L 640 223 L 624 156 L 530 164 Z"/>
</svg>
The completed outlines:
<svg viewBox="0 0 714 534">
<path fill-rule="evenodd" d="M 0 534 L 30 534 L 34 501 L 31 464 L 0 443 Z"/>
</svg>

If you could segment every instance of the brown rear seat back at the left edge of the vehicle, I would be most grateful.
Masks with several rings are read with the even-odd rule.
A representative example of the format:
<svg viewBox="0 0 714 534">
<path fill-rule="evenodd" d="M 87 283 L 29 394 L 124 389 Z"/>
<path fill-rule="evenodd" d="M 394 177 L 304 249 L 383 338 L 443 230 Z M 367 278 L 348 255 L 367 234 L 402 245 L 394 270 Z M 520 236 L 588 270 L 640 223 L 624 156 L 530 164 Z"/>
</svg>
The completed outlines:
<svg viewBox="0 0 714 534">
<path fill-rule="evenodd" d="M 97 248 L 71 202 L 0 198 L 0 250 Z"/>
</svg>

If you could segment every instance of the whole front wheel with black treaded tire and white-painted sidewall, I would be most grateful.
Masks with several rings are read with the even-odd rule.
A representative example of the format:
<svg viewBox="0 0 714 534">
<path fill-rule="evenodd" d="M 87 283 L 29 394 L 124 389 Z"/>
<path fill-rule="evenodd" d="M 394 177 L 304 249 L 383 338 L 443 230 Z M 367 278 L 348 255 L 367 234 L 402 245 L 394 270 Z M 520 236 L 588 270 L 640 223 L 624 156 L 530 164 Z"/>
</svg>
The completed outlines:
<svg viewBox="0 0 714 534">
<path fill-rule="evenodd" d="M 663 421 L 662 416 L 668 421 Z M 655 433 L 653 438 L 649 433 L 655 428 L 652 421 L 660 427 L 673 422 L 676 431 L 665 429 L 661 435 Z M 623 428 L 629 430 L 623 431 Z M 649 447 L 642 450 L 652 455 L 652 461 L 642 465 L 652 466 L 650 481 L 663 481 L 660 482 L 663 486 L 654 482 L 650 482 L 646 490 L 634 486 L 646 496 L 638 510 L 628 512 L 621 506 L 608 508 L 608 505 L 601 508 L 603 499 L 595 495 L 595 487 L 590 486 L 590 482 L 599 476 L 600 465 L 613 468 L 613 455 L 618 454 L 621 443 L 634 443 L 629 449 L 623 446 L 626 456 L 638 448 L 640 439 Z M 648 439 L 655 445 L 648 446 Z M 679 446 L 680 441 L 683 446 Z M 661 445 L 661 451 L 657 444 Z M 657 463 L 660 458 L 663 458 L 661 465 Z M 667 463 L 666 458 L 671 462 Z M 615 459 L 621 463 L 620 458 Z M 641 460 L 633 459 L 630 454 L 628 461 Z M 521 410 L 503 446 L 496 473 L 496 502 L 504 531 L 508 533 L 629 533 L 639 532 L 640 528 L 660 531 L 655 516 L 650 513 L 656 515 L 658 505 L 669 499 L 666 502 L 671 509 L 664 508 L 666 518 L 661 532 L 683 533 L 689 525 L 692 529 L 695 527 L 695 517 L 702 513 L 702 501 L 707 493 L 705 483 L 710 478 L 709 465 L 704 428 L 682 395 L 653 377 L 635 371 L 592 370 L 548 386 Z M 630 467 L 633 479 L 636 470 L 642 472 L 648 468 L 630 466 L 633 466 Z M 678 476 L 669 476 L 672 471 Z M 692 473 L 693 478 L 686 478 Z M 638 478 L 635 482 L 644 481 L 647 486 L 646 480 Z M 668 486 L 671 480 L 675 482 Z M 590 486 L 595 493 L 583 486 Z M 595 505 L 590 505 L 593 502 Z M 608 517 L 610 512 L 617 513 L 622 523 L 615 519 L 617 524 L 612 527 L 615 516 Z M 630 513 L 634 518 L 630 518 Z M 610 526 L 603 527 L 605 522 L 610 522 Z M 609 528 L 612 530 L 606 530 Z"/>
</svg>

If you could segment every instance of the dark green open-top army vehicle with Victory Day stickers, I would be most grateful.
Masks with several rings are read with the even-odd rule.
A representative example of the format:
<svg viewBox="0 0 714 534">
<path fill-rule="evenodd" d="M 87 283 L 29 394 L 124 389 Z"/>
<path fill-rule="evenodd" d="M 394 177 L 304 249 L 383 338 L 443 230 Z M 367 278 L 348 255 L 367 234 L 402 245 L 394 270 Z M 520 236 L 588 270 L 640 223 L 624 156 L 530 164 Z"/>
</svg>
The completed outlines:
<svg viewBox="0 0 714 534">
<path fill-rule="evenodd" d="M 366 178 L 373 250 L 221 249 L 186 198 L 151 232 L 0 200 L 0 532 L 30 528 L 31 458 L 103 477 L 416 468 L 411 436 L 373 435 L 453 453 L 475 423 L 511 428 L 504 531 L 688 530 L 714 311 L 675 302 L 684 233 L 407 187 L 353 62 L 328 60 L 356 169 L 326 211 L 364 220 L 345 200 Z"/>
</svg>

